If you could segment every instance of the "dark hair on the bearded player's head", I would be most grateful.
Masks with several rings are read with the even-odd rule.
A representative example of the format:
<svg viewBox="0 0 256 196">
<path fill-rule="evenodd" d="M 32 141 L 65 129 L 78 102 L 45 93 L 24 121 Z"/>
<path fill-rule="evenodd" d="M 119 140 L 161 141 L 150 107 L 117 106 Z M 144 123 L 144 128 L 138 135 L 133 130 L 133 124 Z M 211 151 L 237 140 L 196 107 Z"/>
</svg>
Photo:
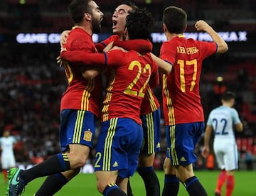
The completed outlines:
<svg viewBox="0 0 256 196">
<path fill-rule="evenodd" d="M 92 13 L 92 8 L 89 5 L 92 0 L 73 0 L 68 6 L 68 11 L 73 20 L 73 23 L 82 22 L 84 14 Z"/>
</svg>

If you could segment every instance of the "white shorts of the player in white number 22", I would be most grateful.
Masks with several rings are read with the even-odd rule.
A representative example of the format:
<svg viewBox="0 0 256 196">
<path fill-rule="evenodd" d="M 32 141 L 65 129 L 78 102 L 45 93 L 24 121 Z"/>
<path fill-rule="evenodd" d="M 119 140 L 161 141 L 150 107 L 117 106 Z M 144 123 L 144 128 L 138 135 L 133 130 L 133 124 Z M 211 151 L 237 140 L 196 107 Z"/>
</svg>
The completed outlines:
<svg viewBox="0 0 256 196">
<path fill-rule="evenodd" d="M 214 141 L 213 150 L 221 170 L 238 169 L 238 146 L 230 141 Z"/>
</svg>

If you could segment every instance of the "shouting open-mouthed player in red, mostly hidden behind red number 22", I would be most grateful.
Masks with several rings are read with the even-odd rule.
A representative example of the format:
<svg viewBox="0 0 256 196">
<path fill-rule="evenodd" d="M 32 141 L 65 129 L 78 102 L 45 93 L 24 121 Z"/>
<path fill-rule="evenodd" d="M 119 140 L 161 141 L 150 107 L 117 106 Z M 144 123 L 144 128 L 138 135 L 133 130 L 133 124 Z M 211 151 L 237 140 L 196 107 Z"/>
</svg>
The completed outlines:
<svg viewBox="0 0 256 196">
<path fill-rule="evenodd" d="M 129 11 L 135 11 L 137 9 L 138 7 L 131 1 L 124 1 L 117 6 L 112 16 L 112 30 L 114 35 L 95 44 L 99 53 L 102 53 L 104 48 L 112 41 L 114 41 L 113 45 L 118 45 L 126 50 L 137 50 L 139 52 L 152 50 L 152 45 L 149 40 L 124 41 L 125 18 L 129 14 Z M 62 33 L 61 40 L 63 40 L 63 43 L 65 43 L 65 38 L 68 37 L 68 33 L 69 31 L 64 31 Z M 92 75 L 93 74 L 95 74 L 95 72 L 92 73 Z M 146 94 L 142 102 L 140 114 L 143 124 L 144 145 L 140 152 L 137 172 L 144 180 L 147 196 L 160 195 L 159 179 L 157 178 L 153 168 L 155 153 L 160 151 L 161 111 L 159 101 L 153 92 L 153 88 L 158 85 L 159 75 L 156 74 L 154 77 L 151 77 L 149 87 L 146 90 Z M 127 194 L 132 196 L 132 189 L 129 182 Z"/>
</svg>

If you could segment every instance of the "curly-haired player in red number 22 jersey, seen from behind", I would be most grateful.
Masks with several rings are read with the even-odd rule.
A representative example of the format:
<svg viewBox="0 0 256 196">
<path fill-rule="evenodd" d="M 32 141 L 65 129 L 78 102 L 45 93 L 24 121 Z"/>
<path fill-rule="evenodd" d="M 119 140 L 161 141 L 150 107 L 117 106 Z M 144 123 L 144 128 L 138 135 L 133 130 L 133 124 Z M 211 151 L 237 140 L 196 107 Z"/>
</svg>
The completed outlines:
<svg viewBox="0 0 256 196">
<path fill-rule="evenodd" d="M 131 12 L 127 15 L 126 26 L 126 38 L 147 39 L 153 18 L 145 10 Z M 97 141 L 95 173 L 97 188 L 103 195 L 126 195 L 128 178 L 137 168 L 142 146 L 140 107 L 149 78 L 158 73 L 157 66 L 149 53 L 139 54 L 134 50 L 88 55 L 70 51 L 61 53 L 60 57 L 81 64 L 106 65 L 110 69 L 102 109 L 102 129 Z M 164 62 L 164 66 L 171 70 L 168 62 Z"/>
</svg>

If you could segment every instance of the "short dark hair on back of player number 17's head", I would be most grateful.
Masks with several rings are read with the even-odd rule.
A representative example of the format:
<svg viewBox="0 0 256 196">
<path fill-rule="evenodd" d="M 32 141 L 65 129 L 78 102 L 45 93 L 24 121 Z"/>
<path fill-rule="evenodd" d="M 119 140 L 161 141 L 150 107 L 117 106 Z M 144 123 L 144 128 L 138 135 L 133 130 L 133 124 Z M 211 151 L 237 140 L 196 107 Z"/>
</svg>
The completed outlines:
<svg viewBox="0 0 256 196">
<path fill-rule="evenodd" d="M 169 6 L 164 9 L 163 23 L 170 33 L 183 33 L 186 27 L 187 14 L 183 9 Z"/>
</svg>

